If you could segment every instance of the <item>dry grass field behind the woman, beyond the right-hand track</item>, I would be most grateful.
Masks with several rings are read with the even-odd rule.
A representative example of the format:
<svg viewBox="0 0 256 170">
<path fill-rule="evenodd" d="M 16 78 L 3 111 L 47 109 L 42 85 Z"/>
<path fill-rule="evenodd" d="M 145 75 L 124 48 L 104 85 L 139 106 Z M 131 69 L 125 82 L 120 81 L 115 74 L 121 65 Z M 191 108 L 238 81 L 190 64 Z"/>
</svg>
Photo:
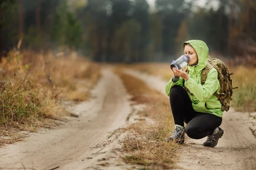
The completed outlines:
<svg viewBox="0 0 256 170">
<path fill-rule="evenodd" d="M 128 68 L 155 76 L 161 76 L 167 81 L 173 76 L 169 63 L 136 64 L 130 65 Z M 229 65 L 228 68 L 230 72 L 234 73 L 234 75 L 231 76 L 233 79 L 233 87 L 239 87 L 233 91 L 231 106 L 237 111 L 256 111 L 256 68 L 242 65 L 236 67 Z"/>
</svg>

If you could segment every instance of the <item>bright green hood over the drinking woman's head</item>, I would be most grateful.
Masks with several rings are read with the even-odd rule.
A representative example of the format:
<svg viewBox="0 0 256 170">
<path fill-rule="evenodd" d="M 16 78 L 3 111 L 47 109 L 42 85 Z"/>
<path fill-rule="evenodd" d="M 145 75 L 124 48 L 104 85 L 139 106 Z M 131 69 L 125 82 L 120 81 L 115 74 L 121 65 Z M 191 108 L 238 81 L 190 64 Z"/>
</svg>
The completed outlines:
<svg viewBox="0 0 256 170">
<path fill-rule="evenodd" d="M 185 48 L 185 44 L 189 43 L 198 54 L 198 64 L 197 65 L 189 65 L 189 68 L 195 68 L 196 72 L 202 71 L 208 63 L 208 54 L 209 48 L 204 41 L 201 40 L 189 40 L 183 43 L 183 51 Z"/>
</svg>

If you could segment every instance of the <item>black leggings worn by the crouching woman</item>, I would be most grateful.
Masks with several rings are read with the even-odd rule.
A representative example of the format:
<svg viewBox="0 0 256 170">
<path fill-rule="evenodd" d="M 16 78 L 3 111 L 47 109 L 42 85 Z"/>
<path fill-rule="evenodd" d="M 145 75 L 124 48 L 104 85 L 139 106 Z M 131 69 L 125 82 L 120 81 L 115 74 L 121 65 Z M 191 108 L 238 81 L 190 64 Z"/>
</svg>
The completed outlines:
<svg viewBox="0 0 256 170">
<path fill-rule="evenodd" d="M 175 85 L 170 91 L 170 104 L 175 125 L 186 125 L 186 134 L 192 139 L 202 139 L 221 125 L 222 118 L 211 113 L 194 111 L 186 90 Z"/>
</svg>

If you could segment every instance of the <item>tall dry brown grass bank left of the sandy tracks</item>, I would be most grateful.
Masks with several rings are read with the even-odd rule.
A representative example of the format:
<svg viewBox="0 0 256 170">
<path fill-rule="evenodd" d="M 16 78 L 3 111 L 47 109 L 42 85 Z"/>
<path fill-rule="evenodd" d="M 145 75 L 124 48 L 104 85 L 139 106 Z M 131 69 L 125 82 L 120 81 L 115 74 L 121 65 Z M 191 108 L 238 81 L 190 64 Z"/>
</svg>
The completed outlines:
<svg viewBox="0 0 256 170">
<path fill-rule="evenodd" d="M 87 99 L 99 77 L 99 65 L 82 58 L 11 51 L 0 62 L 0 145 L 22 139 L 19 130 L 35 131 L 67 115 L 63 101 Z M 80 79 L 83 91 L 78 88 Z M 9 134 L 16 136 L 9 138 Z"/>
</svg>

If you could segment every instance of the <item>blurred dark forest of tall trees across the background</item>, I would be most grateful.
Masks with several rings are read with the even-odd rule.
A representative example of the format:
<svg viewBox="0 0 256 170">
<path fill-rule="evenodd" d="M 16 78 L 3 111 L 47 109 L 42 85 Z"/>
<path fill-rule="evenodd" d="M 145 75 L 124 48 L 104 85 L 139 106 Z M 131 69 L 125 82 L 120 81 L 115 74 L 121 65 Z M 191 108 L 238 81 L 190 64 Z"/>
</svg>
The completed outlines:
<svg viewBox="0 0 256 170">
<path fill-rule="evenodd" d="M 77 51 L 94 61 L 171 61 L 186 40 L 210 52 L 256 59 L 256 1 L 0 0 L 0 51 Z M 218 6 L 212 2 L 217 1 Z"/>
</svg>

